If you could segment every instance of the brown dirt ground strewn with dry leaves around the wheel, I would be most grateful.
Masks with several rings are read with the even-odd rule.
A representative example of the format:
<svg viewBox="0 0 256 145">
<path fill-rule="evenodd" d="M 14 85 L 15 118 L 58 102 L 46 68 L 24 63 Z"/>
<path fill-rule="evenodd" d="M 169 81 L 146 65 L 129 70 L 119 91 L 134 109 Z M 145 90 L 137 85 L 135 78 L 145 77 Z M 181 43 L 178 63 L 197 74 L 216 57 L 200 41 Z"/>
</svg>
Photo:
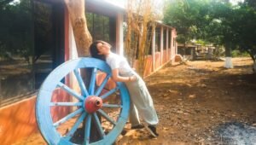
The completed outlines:
<svg viewBox="0 0 256 145">
<path fill-rule="evenodd" d="M 256 144 L 253 61 L 232 61 L 232 69 L 225 69 L 224 61 L 167 64 L 146 78 L 160 119 L 160 136 L 152 138 L 144 129 L 130 130 L 128 123 L 127 132 L 115 144 Z M 38 133 L 17 144 L 46 143 Z"/>
</svg>

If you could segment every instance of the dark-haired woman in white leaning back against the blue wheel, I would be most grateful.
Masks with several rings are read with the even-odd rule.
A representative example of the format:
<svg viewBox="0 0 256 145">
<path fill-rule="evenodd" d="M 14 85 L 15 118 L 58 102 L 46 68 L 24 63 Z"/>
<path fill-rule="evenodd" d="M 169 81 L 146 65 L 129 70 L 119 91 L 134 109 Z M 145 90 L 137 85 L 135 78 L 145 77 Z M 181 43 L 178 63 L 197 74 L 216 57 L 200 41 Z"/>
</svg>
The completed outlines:
<svg viewBox="0 0 256 145">
<path fill-rule="evenodd" d="M 158 136 L 156 125 L 159 120 L 154 110 L 154 104 L 148 89 L 137 73 L 133 71 L 125 57 L 111 52 L 111 45 L 104 41 L 96 41 L 90 45 L 90 55 L 94 58 L 106 61 L 112 69 L 112 78 L 116 82 L 124 82 L 131 96 L 130 122 L 131 129 L 140 129 L 144 125 L 140 123 L 138 112 L 148 124 L 146 129 L 154 137 Z"/>
</svg>

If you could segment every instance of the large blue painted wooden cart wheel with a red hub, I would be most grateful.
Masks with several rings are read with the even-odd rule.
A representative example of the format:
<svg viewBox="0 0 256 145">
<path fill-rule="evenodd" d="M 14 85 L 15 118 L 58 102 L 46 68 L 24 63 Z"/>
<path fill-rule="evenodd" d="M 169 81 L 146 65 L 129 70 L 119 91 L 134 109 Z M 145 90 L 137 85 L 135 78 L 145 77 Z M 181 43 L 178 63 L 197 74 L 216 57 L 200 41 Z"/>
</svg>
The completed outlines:
<svg viewBox="0 0 256 145">
<path fill-rule="evenodd" d="M 92 71 L 89 86 L 84 84 L 79 73 L 82 69 Z M 106 76 L 101 84 L 98 84 L 96 79 L 99 73 Z M 77 82 L 77 86 L 79 86 L 77 88 L 63 83 L 65 77 L 72 75 L 75 78 L 73 82 Z M 36 104 L 38 126 L 46 142 L 65 145 L 112 144 L 116 140 L 129 116 L 130 96 L 123 83 L 116 83 L 115 88 L 105 89 L 111 75 L 108 64 L 94 58 L 67 61 L 49 74 L 38 91 Z M 68 99 L 65 102 L 54 102 L 54 97 L 57 100 L 64 97 L 55 96 L 56 90 L 68 94 Z M 85 105 L 89 96 L 102 100 L 102 107 L 89 113 Z M 69 101 L 67 102 L 67 100 Z M 54 109 L 56 107 L 70 111 L 61 119 L 55 120 L 53 110 L 57 110 Z M 94 124 L 93 128 L 91 128 L 92 124 Z M 94 141 L 90 139 L 91 130 L 96 130 L 99 135 Z M 82 131 L 80 134 L 82 142 L 73 140 L 78 131 Z"/>
</svg>

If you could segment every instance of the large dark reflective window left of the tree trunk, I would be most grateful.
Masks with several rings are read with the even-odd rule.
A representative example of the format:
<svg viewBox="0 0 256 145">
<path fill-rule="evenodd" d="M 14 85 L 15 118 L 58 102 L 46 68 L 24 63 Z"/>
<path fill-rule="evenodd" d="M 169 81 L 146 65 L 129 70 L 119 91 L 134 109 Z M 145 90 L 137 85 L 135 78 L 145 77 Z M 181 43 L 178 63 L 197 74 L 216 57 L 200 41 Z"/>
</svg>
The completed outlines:
<svg viewBox="0 0 256 145">
<path fill-rule="evenodd" d="M 0 107 L 34 94 L 64 61 L 63 8 L 31 0 L 0 6 Z"/>
</svg>

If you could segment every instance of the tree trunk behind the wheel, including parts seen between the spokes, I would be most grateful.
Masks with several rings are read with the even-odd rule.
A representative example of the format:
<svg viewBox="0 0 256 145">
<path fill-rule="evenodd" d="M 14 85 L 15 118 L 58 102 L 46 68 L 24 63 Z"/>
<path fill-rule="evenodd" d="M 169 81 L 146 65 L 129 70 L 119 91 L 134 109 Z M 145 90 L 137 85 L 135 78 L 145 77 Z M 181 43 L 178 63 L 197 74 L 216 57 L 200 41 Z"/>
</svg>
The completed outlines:
<svg viewBox="0 0 256 145">
<path fill-rule="evenodd" d="M 84 0 L 64 0 L 67 6 L 69 18 L 73 27 L 73 35 L 75 38 L 75 43 L 78 51 L 79 57 L 84 57 L 89 55 L 89 47 L 92 42 L 90 32 L 87 28 L 86 18 L 85 18 L 85 3 Z M 81 69 L 81 76 L 84 79 L 84 84 L 89 86 L 91 70 Z M 85 122 L 84 122 L 85 123 Z M 73 136 L 74 140 L 84 139 L 84 126 L 77 130 L 77 132 L 82 132 L 79 136 Z M 96 131 L 95 122 L 91 122 L 90 128 L 90 141 L 96 141 L 99 139 L 99 133 Z M 85 140 L 85 139 L 84 139 Z"/>
</svg>

